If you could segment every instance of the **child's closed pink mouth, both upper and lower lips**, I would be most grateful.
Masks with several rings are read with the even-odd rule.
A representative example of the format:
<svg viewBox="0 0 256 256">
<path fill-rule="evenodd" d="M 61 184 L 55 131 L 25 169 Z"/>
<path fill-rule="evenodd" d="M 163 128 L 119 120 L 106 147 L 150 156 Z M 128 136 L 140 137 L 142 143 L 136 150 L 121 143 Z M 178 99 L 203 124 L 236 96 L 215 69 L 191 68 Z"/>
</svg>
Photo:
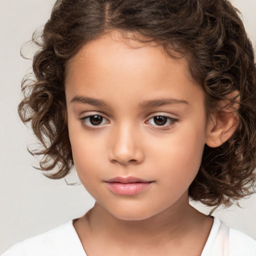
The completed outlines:
<svg viewBox="0 0 256 256">
<path fill-rule="evenodd" d="M 150 186 L 152 181 L 136 177 L 114 177 L 105 181 L 107 187 L 114 193 L 120 195 L 134 195 Z"/>
</svg>

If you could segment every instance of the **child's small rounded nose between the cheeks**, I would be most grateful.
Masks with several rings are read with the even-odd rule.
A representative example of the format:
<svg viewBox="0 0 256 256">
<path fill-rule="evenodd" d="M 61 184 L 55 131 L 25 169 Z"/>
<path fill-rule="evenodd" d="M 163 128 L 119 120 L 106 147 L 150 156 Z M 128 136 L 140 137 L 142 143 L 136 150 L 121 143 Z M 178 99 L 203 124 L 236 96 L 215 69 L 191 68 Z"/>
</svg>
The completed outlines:
<svg viewBox="0 0 256 256">
<path fill-rule="evenodd" d="M 138 132 L 130 124 L 112 130 L 109 160 L 121 164 L 137 164 L 143 161 L 144 152 Z"/>
</svg>

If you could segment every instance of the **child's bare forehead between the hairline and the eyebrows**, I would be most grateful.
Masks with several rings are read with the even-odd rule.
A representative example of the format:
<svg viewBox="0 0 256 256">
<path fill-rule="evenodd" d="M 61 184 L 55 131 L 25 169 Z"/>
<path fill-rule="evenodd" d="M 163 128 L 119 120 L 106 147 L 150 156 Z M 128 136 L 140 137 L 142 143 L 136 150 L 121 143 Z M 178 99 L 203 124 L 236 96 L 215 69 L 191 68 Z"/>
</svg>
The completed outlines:
<svg viewBox="0 0 256 256">
<path fill-rule="evenodd" d="M 105 34 L 81 47 L 67 64 L 66 96 L 118 95 L 151 99 L 190 97 L 201 90 L 191 78 L 185 57 L 171 58 L 156 43 L 141 43 L 118 33 Z M 132 93 L 131 93 L 132 92 Z M 89 94 L 89 95 L 87 95 Z M 126 97 L 125 97 L 126 95 Z M 187 100 L 187 99 L 185 99 Z"/>
</svg>

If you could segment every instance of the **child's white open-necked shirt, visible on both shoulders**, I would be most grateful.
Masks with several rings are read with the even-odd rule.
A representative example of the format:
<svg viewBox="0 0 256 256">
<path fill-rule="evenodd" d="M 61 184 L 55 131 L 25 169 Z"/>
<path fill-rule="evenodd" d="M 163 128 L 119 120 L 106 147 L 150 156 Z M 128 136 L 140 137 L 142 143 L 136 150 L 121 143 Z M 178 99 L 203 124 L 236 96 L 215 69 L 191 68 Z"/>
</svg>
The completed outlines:
<svg viewBox="0 0 256 256">
<path fill-rule="evenodd" d="M 86 256 L 73 221 L 19 242 L 1 256 Z M 214 221 L 201 256 L 256 256 L 256 240 Z"/>
</svg>

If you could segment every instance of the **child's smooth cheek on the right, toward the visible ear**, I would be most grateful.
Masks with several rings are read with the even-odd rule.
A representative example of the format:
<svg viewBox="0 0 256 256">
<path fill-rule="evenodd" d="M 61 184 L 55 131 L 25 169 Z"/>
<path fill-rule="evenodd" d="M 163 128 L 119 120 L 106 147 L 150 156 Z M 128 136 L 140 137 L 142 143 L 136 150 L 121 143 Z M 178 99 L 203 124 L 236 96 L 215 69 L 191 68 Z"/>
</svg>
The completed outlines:
<svg viewBox="0 0 256 256">
<path fill-rule="evenodd" d="M 173 186 L 190 185 L 201 163 L 204 140 L 204 129 L 191 125 L 168 135 L 165 143 L 152 149 L 154 161 L 163 170 L 162 175 L 173 180 Z"/>
</svg>

